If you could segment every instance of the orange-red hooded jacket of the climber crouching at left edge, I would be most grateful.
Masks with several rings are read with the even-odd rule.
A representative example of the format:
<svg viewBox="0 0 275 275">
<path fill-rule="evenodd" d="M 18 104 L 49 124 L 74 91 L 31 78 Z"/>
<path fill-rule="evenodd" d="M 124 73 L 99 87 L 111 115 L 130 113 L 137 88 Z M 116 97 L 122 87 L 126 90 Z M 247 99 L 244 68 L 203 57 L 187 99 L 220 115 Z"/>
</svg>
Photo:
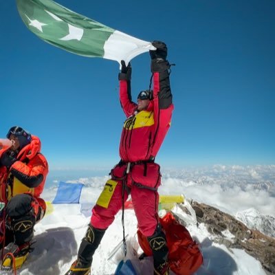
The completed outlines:
<svg viewBox="0 0 275 275">
<path fill-rule="evenodd" d="M 49 172 L 47 160 L 40 151 L 41 141 L 32 135 L 30 144 L 21 149 L 10 168 L 0 166 L 0 201 L 7 202 L 10 197 L 25 192 L 39 198 Z"/>
</svg>

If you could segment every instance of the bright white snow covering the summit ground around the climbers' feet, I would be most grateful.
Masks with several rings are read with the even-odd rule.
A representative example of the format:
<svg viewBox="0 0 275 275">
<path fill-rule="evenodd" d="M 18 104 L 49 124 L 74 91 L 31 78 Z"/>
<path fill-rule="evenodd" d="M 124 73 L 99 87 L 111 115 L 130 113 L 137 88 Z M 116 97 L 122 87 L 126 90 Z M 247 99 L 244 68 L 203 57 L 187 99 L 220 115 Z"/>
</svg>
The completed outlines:
<svg viewBox="0 0 275 275">
<path fill-rule="evenodd" d="M 176 212 L 179 210 L 176 210 Z M 141 250 L 137 245 L 137 222 L 133 210 L 125 211 L 125 230 L 129 234 L 127 244 L 131 244 L 137 252 Z M 23 265 L 21 275 L 53 275 L 65 274 L 70 264 L 76 258 L 80 241 L 83 238 L 89 217 L 80 212 L 79 204 L 54 205 L 54 212 L 48 214 L 36 225 L 34 252 Z M 229 251 L 224 245 L 212 243 L 211 235 L 206 227 L 189 225 L 190 234 L 201 243 L 204 264 L 196 274 L 234 274 L 234 275 L 261 275 L 265 272 L 259 261 L 242 250 Z M 115 246 L 122 240 L 121 212 L 118 213 L 113 224 L 108 228 L 92 263 L 92 274 L 113 274 L 120 260 L 123 259 L 122 250 L 119 250 L 113 259 L 107 260 Z M 127 258 L 134 258 L 133 248 L 128 246 Z M 34 264 L 35 263 L 35 264 Z M 142 264 L 140 274 L 153 274 L 152 261 L 148 259 Z M 173 274 L 171 272 L 171 274 Z"/>
</svg>

